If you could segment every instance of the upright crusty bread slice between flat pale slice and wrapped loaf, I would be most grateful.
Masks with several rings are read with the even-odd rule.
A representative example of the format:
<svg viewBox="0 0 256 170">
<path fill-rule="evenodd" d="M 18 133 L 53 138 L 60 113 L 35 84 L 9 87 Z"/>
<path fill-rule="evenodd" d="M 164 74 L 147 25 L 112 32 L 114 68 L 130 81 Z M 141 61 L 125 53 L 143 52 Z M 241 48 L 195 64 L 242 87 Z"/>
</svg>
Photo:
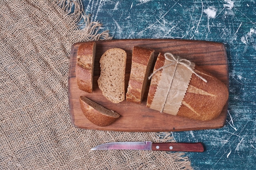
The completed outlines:
<svg viewBox="0 0 256 170">
<path fill-rule="evenodd" d="M 141 104 L 148 82 L 148 75 L 154 59 L 153 49 L 134 46 L 132 50 L 132 67 L 126 93 L 126 100 Z"/>
</svg>

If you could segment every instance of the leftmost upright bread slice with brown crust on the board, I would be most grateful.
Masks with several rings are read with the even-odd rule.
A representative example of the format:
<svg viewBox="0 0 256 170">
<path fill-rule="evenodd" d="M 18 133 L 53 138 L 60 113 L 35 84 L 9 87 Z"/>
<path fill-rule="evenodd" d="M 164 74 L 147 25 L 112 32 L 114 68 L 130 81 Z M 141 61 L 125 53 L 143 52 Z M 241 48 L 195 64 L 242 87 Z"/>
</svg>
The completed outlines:
<svg viewBox="0 0 256 170">
<path fill-rule="evenodd" d="M 87 42 L 78 47 L 76 59 L 76 81 L 82 91 L 92 93 L 93 69 L 96 43 Z"/>
</svg>

